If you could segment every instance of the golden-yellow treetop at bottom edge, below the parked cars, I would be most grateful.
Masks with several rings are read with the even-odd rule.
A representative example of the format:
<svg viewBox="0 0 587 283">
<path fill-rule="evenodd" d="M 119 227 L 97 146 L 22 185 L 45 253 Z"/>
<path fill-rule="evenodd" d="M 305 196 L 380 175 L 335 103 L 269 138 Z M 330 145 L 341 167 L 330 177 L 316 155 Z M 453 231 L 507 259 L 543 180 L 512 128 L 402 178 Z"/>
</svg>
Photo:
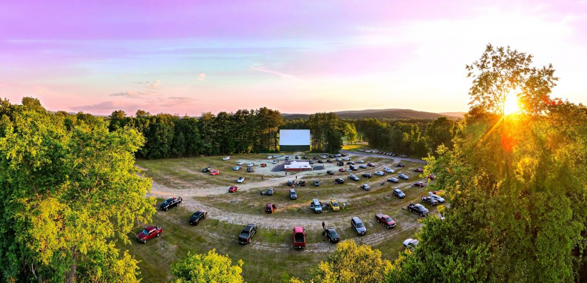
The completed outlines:
<svg viewBox="0 0 587 283">
<path fill-rule="evenodd" d="M 379 250 L 368 245 L 357 246 L 355 241 L 346 240 L 336 245 L 336 250 L 328 257 L 328 261 L 320 262 L 312 271 L 311 282 L 382 282 L 392 269 L 392 263 L 381 258 Z M 292 283 L 303 282 L 292 278 Z"/>
</svg>

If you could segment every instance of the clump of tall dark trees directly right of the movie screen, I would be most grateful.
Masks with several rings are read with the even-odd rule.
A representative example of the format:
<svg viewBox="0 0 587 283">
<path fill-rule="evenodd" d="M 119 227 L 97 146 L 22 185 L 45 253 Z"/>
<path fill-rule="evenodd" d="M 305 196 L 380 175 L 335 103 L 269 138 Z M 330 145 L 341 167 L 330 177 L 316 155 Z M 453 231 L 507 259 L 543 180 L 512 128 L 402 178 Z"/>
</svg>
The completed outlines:
<svg viewBox="0 0 587 283">
<path fill-rule="evenodd" d="M 323 112 L 309 115 L 308 120 L 286 121 L 280 128 L 310 129 L 313 152 L 338 152 L 342 148 L 342 137 L 347 125 L 335 113 Z"/>
</svg>

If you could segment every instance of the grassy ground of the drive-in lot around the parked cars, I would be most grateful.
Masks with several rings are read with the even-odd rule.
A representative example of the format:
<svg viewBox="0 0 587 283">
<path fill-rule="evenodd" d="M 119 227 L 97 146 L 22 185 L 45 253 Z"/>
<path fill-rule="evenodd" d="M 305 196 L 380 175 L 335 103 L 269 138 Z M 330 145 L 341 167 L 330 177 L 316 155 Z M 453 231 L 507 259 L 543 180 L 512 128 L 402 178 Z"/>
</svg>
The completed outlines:
<svg viewBox="0 0 587 283">
<path fill-rule="evenodd" d="M 221 156 L 211 158 L 180 158 L 180 159 L 163 159 L 156 161 L 137 161 L 140 168 L 147 176 L 153 178 L 156 182 L 166 186 L 183 189 L 185 187 L 198 187 L 205 185 L 224 185 L 232 183 L 233 178 L 237 175 L 247 174 L 246 172 L 231 172 L 230 168 L 234 166 L 236 160 L 264 160 L 266 156 L 231 156 L 230 162 L 221 161 Z M 311 172 L 311 176 L 305 176 L 301 179 L 306 180 L 306 186 L 296 188 L 298 192 L 297 200 L 290 200 L 288 196 L 289 187 L 284 182 L 280 182 L 275 188 L 274 196 L 263 196 L 259 191 L 266 187 L 258 187 L 244 192 L 223 193 L 220 195 L 197 197 L 195 198 L 207 206 L 215 207 L 225 212 L 238 213 L 242 216 L 250 215 L 251 217 L 263 217 L 265 221 L 281 221 L 289 223 L 292 220 L 291 227 L 294 226 L 296 219 L 305 221 L 316 220 L 316 223 L 325 221 L 327 226 L 336 227 L 340 234 L 341 240 L 353 239 L 357 244 L 371 244 L 373 248 L 382 251 L 383 257 L 393 260 L 397 257 L 399 251 L 403 250 L 402 242 L 406 238 L 414 237 L 414 233 L 419 230 L 420 217 L 416 214 L 403 210 L 409 202 L 419 203 L 420 195 L 427 192 L 427 186 L 412 187 L 411 184 L 417 180 L 425 180 L 419 176 L 420 173 L 413 171 L 414 168 L 421 167 L 421 163 L 404 162 L 406 168 L 395 168 L 391 159 L 372 158 L 370 156 L 354 156 L 353 161 L 363 159 L 366 162 L 373 162 L 377 169 L 383 165 L 396 169 L 396 173 L 386 176 L 375 176 L 373 178 L 362 178 L 363 172 L 373 173 L 375 169 L 359 169 L 355 175 L 359 176 L 359 182 L 347 178 L 349 172 L 335 172 L 335 175 L 327 175 L 325 171 Z M 257 162 L 255 162 L 257 163 Z M 332 163 L 329 163 L 331 165 Z M 220 168 L 221 178 L 219 176 L 210 176 L 201 173 L 201 168 L 211 165 L 212 168 Z M 358 165 L 358 164 L 357 164 Z M 338 168 L 338 167 L 337 167 Z M 348 165 L 345 165 L 348 168 Z M 400 180 L 397 184 L 380 182 L 393 176 L 397 178 L 397 172 L 402 171 L 409 175 L 410 180 Z M 258 175 L 259 172 L 248 173 Z M 245 175 L 247 176 L 247 175 Z M 280 172 L 275 173 L 275 177 L 283 177 Z M 345 184 L 334 185 L 335 178 L 345 178 Z M 265 175 L 265 180 L 272 178 L 272 175 Z M 252 179 L 252 178 L 251 178 Z M 285 179 L 285 178 L 284 178 Z M 292 176 L 294 179 L 294 176 Z M 312 185 L 313 180 L 318 179 L 321 186 Z M 259 178 L 260 180 L 260 178 Z M 254 180 L 251 180 L 255 182 Z M 360 189 L 363 183 L 369 184 L 372 189 L 365 191 Z M 405 199 L 397 199 L 392 196 L 393 187 L 399 187 L 406 193 Z M 328 202 L 330 196 L 334 195 L 339 203 L 345 204 L 345 209 L 340 212 L 331 212 L 326 209 L 322 214 L 313 213 L 308 204 L 313 198 L 322 202 Z M 274 203 L 277 210 L 273 214 L 265 214 L 264 206 L 266 203 Z M 436 213 L 436 207 L 431 207 L 430 213 Z M 268 227 L 259 226 L 259 230 L 253 238 L 253 243 L 242 246 L 237 243 L 239 232 L 247 223 L 230 224 L 210 217 L 204 220 L 198 226 L 190 226 L 188 219 L 192 212 L 187 211 L 183 206 L 173 208 L 168 212 L 158 211 L 153 217 L 153 224 L 164 227 L 165 231 L 160 238 L 154 238 L 147 244 L 140 244 L 134 240 L 134 235 L 129 234 L 133 240 L 128 248 L 130 254 L 141 260 L 141 277 L 143 282 L 166 282 L 171 278 L 168 277 L 170 265 L 180 260 L 188 251 L 193 253 L 206 253 L 208 250 L 215 248 L 218 253 L 228 254 L 233 261 L 243 260 L 242 275 L 248 282 L 288 282 L 291 277 L 304 278 L 309 270 L 316 267 L 320 261 L 326 260 L 329 251 L 333 250 L 331 244 L 326 243 L 326 238 L 322 236 L 321 230 L 308 229 L 306 235 L 307 243 L 322 243 L 321 247 L 326 247 L 325 251 L 294 250 L 291 248 L 291 229 L 269 229 Z M 386 229 L 381 224 L 376 223 L 374 215 L 376 213 L 389 214 L 398 226 L 394 229 Z M 350 217 L 359 216 L 367 226 L 367 236 L 357 236 L 350 227 Z M 257 224 L 257 223 L 255 223 Z M 289 225 L 289 224 L 288 224 Z M 286 226 L 286 225 L 285 225 Z M 284 225 L 278 227 L 285 227 Z M 399 227 L 399 228 L 398 228 Z"/>
</svg>

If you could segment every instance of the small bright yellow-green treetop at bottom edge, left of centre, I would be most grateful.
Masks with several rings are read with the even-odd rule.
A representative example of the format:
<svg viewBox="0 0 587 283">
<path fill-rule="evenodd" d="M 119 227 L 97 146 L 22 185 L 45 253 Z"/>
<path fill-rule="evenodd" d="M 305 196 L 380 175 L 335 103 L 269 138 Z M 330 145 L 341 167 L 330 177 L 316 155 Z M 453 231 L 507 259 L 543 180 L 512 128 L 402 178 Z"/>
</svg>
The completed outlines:
<svg viewBox="0 0 587 283">
<path fill-rule="evenodd" d="M 208 254 L 188 253 L 184 260 L 171 267 L 171 274 L 177 277 L 175 283 L 239 283 L 244 282 L 241 276 L 243 264 L 239 260 L 232 265 L 228 255 L 212 249 Z"/>
</svg>

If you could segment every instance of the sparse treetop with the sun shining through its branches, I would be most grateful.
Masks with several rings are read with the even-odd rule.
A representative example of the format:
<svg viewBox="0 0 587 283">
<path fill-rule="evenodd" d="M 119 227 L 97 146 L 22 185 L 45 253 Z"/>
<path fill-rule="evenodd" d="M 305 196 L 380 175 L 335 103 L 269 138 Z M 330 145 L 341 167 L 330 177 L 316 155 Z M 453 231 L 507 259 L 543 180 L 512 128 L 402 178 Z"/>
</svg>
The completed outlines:
<svg viewBox="0 0 587 283">
<path fill-rule="evenodd" d="M 558 77 L 554 77 L 551 64 L 540 69 L 531 64 L 532 55 L 488 44 L 481 58 L 466 66 L 467 77 L 473 77 L 469 104 L 503 116 L 505 101 L 514 95 L 521 98 L 528 112 L 544 111 L 554 103 L 549 94 Z"/>
</svg>

